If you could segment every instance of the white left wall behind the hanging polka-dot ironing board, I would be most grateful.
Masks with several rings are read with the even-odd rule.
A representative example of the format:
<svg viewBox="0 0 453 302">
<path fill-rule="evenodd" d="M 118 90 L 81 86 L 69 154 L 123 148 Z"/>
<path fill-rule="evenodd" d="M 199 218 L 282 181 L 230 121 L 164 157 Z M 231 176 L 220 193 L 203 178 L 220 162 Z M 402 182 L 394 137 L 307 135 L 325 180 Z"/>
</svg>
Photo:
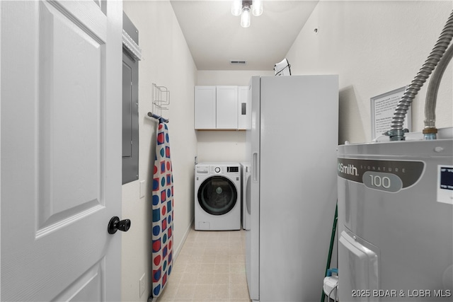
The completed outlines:
<svg viewBox="0 0 453 302">
<path fill-rule="evenodd" d="M 139 30 L 144 60 L 139 62 L 139 180 L 122 186 L 122 217 L 131 219 L 122 233 L 122 301 L 147 301 L 151 292 L 151 185 L 157 122 L 145 117 L 153 111 L 151 83 L 171 92 L 169 134 L 174 180 L 173 248 L 176 254 L 193 219 L 193 163 L 197 149 L 193 129 L 193 86 L 196 67 L 169 1 L 125 1 L 123 9 Z M 159 114 L 159 112 L 156 112 Z M 145 197 L 139 197 L 139 181 Z M 139 297 L 139 278 L 147 289 Z"/>
</svg>

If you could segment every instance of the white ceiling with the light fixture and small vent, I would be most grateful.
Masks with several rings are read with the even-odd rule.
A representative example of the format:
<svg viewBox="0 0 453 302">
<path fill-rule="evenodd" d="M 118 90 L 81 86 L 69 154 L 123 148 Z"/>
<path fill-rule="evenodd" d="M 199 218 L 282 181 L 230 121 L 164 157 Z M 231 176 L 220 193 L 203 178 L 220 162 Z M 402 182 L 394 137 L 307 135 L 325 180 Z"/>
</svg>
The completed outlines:
<svg viewBox="0 0 453 302">
<path fill-rule="evenodd" d="M 249 28 L 231 14 L 232 0 L 171 0 L 171 5 L 198 70 L 272 70 L 318 1 L 263 0 L 263 14 L 251 16 Z"/>
</svg>

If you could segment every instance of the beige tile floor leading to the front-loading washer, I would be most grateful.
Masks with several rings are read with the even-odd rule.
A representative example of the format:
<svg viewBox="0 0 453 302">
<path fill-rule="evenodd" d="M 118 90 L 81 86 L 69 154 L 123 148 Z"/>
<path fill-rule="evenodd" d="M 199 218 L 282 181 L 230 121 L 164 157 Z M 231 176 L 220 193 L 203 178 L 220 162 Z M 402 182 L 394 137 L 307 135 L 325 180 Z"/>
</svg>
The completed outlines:
<svg viewBox="0 0 453 302">
<path fill-rule="evenodd" d="M 164 301 L 250 302 L 244 231 L 188 233 L 164 292 Z"/>
</svg>

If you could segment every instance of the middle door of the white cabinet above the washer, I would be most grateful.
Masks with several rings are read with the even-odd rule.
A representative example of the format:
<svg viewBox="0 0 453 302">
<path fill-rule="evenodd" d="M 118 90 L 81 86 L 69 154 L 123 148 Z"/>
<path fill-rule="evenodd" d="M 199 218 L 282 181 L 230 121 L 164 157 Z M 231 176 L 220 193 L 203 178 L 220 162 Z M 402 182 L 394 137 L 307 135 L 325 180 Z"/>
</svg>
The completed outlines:
<svg viewBox="0 0 453 302">
<path fill-rule="evenodd" d="M 238 129 L 238 86 L 217 86 L 217 129 Z"/>
</svg>

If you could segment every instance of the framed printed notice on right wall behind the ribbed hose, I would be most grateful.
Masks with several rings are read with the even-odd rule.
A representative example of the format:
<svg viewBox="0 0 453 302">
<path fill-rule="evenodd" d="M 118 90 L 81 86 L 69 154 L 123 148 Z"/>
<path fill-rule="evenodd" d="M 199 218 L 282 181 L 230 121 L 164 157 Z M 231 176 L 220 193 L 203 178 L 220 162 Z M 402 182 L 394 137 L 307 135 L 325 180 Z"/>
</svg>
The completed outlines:
<svg viewBox="0 0 453 302">
<path fill-rule="evenodd" d="M 404 91 L 408 86 L 382 93 L 371 98 L 371 136 L 372 140 L 382 136 L 384 132 L 390 130 L 391 120 L 394 117 L 394 112 L 398 102 L 404 95 Z M 404 129 L 411 132 L 412 128 L 412 108 L 409 107 L 407 115 L 404 119 Z"/>
</svg>

